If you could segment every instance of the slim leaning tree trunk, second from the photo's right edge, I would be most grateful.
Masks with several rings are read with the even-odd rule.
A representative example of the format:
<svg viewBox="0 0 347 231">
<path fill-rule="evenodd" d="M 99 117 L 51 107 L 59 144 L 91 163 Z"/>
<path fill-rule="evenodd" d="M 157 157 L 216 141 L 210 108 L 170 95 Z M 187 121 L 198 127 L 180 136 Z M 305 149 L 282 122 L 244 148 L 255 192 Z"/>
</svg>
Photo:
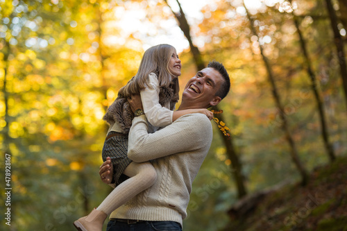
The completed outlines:
<svg viewBox="0 0 347 231">
<path fill-rule="evenodd" d="M 294 24 L 296 26 L 296 31 L 298 32 L 298 36 L 300 39 L 301 50 L 303 51 L 303 55 L 305 58 L 305 65 L 307 66 L 307 74 L 308 76 L 310 76 L 312 92 L 314 93 L 314 98 L 316 99 L 317 110 L 319 112 L 319 119 L 321 122 L 321 135 L 323 137 L 324 146 L 330 158 L 330 162 L 333 162 L 335 160 L 335 153 L 334 148 L 332 148 L 332 145 L 329 142 L 329 134 L 325 120 L 323 101 L 321 100 L 321 95 L 319 94 L 316 76 L 314 75 L 314 71 L 312 70 L 311 60 L 306 49 L 306 42 L 303 38 L 303 34 L 301 33 L 301 29 L 299 27 L 298 18 L 295 17 L 294 13 L 293 17 Z"/>
</svg>

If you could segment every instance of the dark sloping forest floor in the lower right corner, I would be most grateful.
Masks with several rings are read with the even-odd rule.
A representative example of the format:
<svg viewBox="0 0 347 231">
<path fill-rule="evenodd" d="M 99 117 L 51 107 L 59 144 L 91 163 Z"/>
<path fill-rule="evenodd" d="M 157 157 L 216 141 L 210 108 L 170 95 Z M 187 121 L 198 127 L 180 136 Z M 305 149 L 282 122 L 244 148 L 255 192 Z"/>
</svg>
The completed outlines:
<svg viewBox="0 0 347 231">
<path fill-rule="evenodd" d="M 347 157 L 320 166 L 310 182 L 264 194 L 225 231 L 347 231 Z"/>
</svg>

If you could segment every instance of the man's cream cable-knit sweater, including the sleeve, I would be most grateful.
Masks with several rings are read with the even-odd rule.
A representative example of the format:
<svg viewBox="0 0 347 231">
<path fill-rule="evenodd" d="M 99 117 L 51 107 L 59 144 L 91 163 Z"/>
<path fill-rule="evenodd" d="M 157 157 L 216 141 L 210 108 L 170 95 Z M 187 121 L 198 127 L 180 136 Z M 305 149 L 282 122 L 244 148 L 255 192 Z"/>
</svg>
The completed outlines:
<svg viewBox="0 0 347 231">
<path fill-rule="evenodd" d="M 110 215 L 112 219 L 176 221 L 187 216 L 192 182 L 212 142 L 211 122 L 204 114 L 187 114 L 157 132 L 148 133 L 144 115 L 133 119 L 128 157 L 151 163 L 158 178 Z"/>
</svg>

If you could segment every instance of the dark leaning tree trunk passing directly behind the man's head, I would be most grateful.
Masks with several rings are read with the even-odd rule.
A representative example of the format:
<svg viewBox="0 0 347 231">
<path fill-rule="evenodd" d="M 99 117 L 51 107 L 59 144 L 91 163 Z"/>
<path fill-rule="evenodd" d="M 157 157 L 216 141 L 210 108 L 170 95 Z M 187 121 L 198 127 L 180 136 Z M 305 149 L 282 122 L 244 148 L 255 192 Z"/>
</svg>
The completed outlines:
<svg viewBox="0 0 347 231">
<path fill-rule="evenodd" d="M 165 1 L 165 3 L 167 3 L 167 0 L 164 0 L 164 1 Z M 180 26 L 180 29 L 185 34 L 185 37 L 187 37 L 187 40 L 188 40 L 189 46 L 190 46 L 190 51 L 193 54 L 194 62 L 196 64 L 197 69 L 198 70 L 204 69 L 205 63 L 203 62 L 203 57 L 202 57 L 199 49 L 196 46 L 194 46 L 194 44 L 192 42 L 192 36 L 190 35 L 190 28 L 189 28 L 189 24 L 187 22 L 187 19 L 185 18 L 185 13 L 183 12 L 183 9 L 181 8 L 179 1 L 178 0 L 176 0 L 176 1 L 178 3 L 179 8 L 180 8 L 179 13 L 174 12 L 174 10 L 172 10 L 172 8 L 169 6 L 169 3 L 167 3 L 167 6 L 169 6 L 171 11 L 174 13 L 174 15 L 178 21 L 178 25 Z M 214 106 L 214 110 L 219 110 L 219 108 L 217 106 Z M 225 121 L 223 119 L 222 114 L 217 114 L 216 117 L 221 121 Z M 246 194 L 247 194 L 246 187 L 244 185 L 244 178 L 242 176 L 242 165 L 239 162 L 239 157 L 237 156 L 237 153 L 235 151 L 235 147 L 232 144 L 232 139 L 228 139 L 221 132 L 219 132 L 219 133 L 223 139 L 224 145 L 226 146 L 228 158 L 231 160 L 230 168 L 231 168 L 232 176 L 234 177 L 234 180 L 236 182 L 237 196 L 238 196 L 238 198 L 242 198 L 242 197 L 246 196 Z"/>
</svg>

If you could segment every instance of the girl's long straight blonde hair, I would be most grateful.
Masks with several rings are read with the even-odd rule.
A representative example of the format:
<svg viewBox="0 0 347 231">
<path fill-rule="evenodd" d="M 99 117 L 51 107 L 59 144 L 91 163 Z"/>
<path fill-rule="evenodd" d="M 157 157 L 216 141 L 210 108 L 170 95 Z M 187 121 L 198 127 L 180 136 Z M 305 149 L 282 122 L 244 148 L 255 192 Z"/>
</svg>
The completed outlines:
<svg viewBox="0 0 347 231">
<path fill-rule="evenodd" d="M 173 76 L 169 71 L 169 60 L 176 49 L 169 44 L 159 44 L 147 49 L 142 56 L 137 74 L 129 82 L 119 89 L 118 96 L 128 98 L 148 86 L 149 74 L 154 73 L 158 77 L 159 87 L 170 87 L 174 90 L 178 100 L 178 76 Z"/>
</svg>

